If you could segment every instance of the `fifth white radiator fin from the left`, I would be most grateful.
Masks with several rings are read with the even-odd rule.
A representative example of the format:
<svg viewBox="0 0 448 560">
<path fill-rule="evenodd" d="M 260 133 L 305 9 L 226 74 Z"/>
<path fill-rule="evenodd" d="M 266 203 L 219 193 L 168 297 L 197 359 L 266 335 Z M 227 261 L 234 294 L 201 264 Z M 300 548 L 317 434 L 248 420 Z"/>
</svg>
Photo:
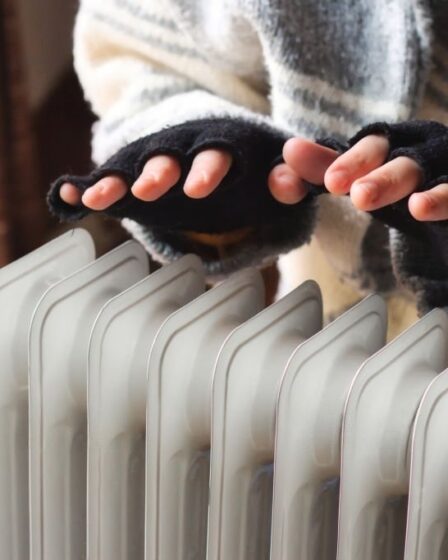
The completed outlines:
<svg viewBox="0 0 448 560">
<path fill-rule="evenodd" d="M 308 282 L 236 329 L 218 356 L 208 558 L 269 555 L 278 390 L 291 353 L 321 325 L 320 291 Z"/>
</svg>

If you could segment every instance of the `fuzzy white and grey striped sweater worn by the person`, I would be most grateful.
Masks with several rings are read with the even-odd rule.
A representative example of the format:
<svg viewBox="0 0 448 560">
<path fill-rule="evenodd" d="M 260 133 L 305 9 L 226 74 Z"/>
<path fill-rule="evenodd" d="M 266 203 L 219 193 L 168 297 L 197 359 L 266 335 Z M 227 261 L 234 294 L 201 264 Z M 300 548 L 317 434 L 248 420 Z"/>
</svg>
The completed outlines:
<svg viewBox="0 0 448 560">
<path fill-rule="evenodd" d="M 243 132 L 253 124 L 274 131 L 278 145 L 291 135 L 342 140 L 375 121 L 448 123 L 447 24 L 444 0 L 81 0 L 74 55 L 99 117 L 93 158 L 101 164 L 136 139 L 198 119 L 238 123 Z M 146 144 L 141 150 L 148 155 Z M 238 191 L 232 196 L 238 205 Z M 422 291 L 408 263 L 400 265 L 409 252 L 402 233 L 346 198 L 319 197 L 312 231 L 278 233 L 297 216 L 311 219 L 282 214 L 224 255 L 136 216 L 123 224 L 153 255 L 167 261 L 196 250 L 212 275 L 264 263 L 312 233 L 337 275 L 359 288 L 387 291 L 398 276 Z M 441 303 L 423 300 L 422 308 Z"/>
</svg>

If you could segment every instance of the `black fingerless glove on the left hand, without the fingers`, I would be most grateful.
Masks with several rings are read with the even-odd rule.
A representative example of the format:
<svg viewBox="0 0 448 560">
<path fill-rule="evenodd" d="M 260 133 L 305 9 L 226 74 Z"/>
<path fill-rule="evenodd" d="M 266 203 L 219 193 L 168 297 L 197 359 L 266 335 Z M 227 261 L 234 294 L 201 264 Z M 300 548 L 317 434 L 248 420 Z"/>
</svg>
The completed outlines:
<svg viewBox="0 0 448 560">
<path fill-rule="evenodd" d="M 269 256 L 306 242 L 313 229 L 315 207 L 309 196 L 300 204 L 286 205 L 271 195 L 267 178 L 281 158 L 287 136 L 266 124 L 237 118 L 190 121 L 132 142 L 88 176 L 64 175 L 51 187 L 48 204 L 62 220 L 78 220 L 90 210 L 70 206 L 60 198 L 64 182 L 85 191 L 106 175 L 118 175 L 128 193 L 103 213 L 137 224 L 137 235 L 162 260 L 185 252 L 200 254 L 211 274 L 230 272 L 243 265 L 259 264 Z M 200 151 L 219 148 L 232 155 L 230 171 L 209 196 L 192 199 L 183 184 L 193 158 Z M 153 202 L 136 199 L 130 187 L 149 158 L 157 154 L 176 157 L 182 168 L 178 183 Z M 243 230 L 243 231 L 241 231 Z M 234 235 L 235 232 L 240 234 Z M 219 250 L 203 243 L 204 236 L 229 239 Z"/>
</svg>

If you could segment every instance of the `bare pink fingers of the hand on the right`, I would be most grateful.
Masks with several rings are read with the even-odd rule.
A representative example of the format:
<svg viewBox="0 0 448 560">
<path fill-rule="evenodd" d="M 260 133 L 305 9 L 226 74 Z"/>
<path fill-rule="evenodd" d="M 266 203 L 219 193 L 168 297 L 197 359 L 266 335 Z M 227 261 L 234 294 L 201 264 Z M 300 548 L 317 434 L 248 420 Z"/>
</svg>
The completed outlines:
<svg viewBox="0 0 448 560">
<path fill-rule="evenodd" d="M 302 138 L 291 138 L 283 149 L 284 164 L 269 175 L 269 188 L 280 202 L 291 204 L 306 195 L 303 180 L 325 184 L 335 195 L 350 194 L 356 208 L 376 210 L 411 195 L 411 215 L 419 221 L 448 219 L 448 184 L 414 193 L 422 180 L 419 165 L 408 157 L 385 163 L 389 142 L 370 135 L 342 155 Z M 411 194 L 414 193 L 414 194 Z"/>
</svg>

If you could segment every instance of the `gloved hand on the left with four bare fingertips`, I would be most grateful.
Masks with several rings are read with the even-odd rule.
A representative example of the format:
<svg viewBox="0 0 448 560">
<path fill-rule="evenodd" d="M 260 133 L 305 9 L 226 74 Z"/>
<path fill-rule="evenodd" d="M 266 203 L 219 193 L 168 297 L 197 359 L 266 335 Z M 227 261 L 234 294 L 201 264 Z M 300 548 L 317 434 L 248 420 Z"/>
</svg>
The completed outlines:
<svg viewBox="0 0 448 560">
<path fill-rule="evenodd" d="M 163 237 L 165 244 L 176 243 L 178 253 L 187 245 L 198 250 L 187 241 L 192 232 L 224 234 L 223 242 L 234 244 L 234 234 L 240 239 L 244 231 L 254 254 L 261 247 L 272 254 L 309 239 L 316 209 L 312 197 L 281 204 L 267 188 L 286 139 L 263 122 L 188 121 L 134 140 L 87 175 L 60 176 L 47 203 L 63 221 L 98 211 L 127 220 L 125 227 L 138 230 L 145 243 Z"/>
</svg>

